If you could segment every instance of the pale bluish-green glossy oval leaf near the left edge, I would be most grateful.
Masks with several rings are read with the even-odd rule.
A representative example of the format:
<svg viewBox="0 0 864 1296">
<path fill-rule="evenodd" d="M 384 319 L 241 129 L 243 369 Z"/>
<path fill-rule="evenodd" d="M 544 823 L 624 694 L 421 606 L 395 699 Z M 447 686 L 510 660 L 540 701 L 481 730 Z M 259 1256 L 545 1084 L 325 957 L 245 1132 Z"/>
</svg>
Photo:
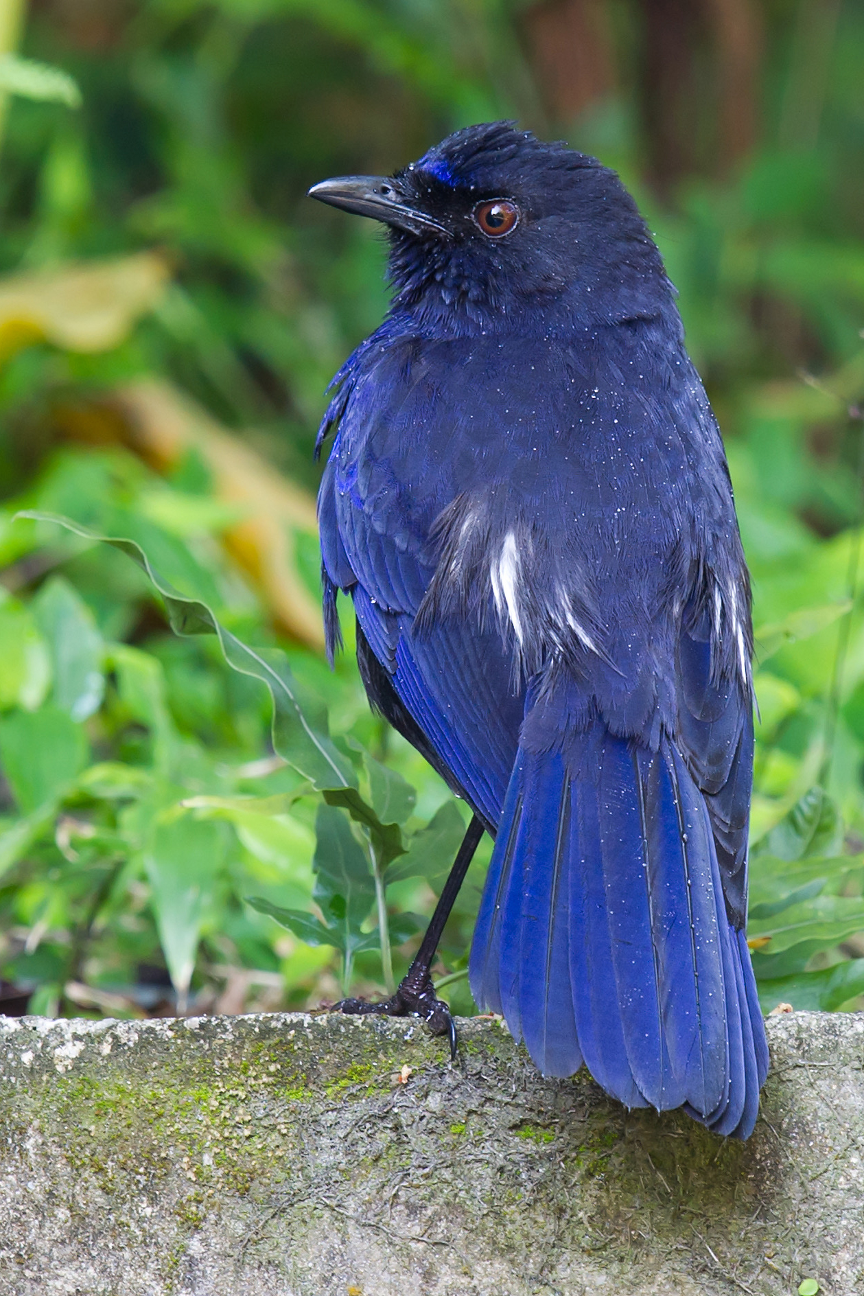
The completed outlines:
<svg viewBox="0 0 864 1296">
<path fill-rule="evenodd" d="M 51 653 L 52 699 L 74 721 L 85 721 L 105 693 L 105 645 L 93 616 L 69 581 L 57 575 L 41 587 L 32 612 Z"/>
</svg>

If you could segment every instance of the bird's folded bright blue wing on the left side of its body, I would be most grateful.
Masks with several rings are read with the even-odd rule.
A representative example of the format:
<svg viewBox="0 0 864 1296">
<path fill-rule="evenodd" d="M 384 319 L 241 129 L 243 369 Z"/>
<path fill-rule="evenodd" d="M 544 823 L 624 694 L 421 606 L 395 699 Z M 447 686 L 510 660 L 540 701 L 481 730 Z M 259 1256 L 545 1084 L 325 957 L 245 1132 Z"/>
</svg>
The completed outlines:
<svg viewBox="0 0 864 1296">
<path fill-rule="evenodd" d="M 363 467 L 343 455 L 339 433 L 319 495 L 325 581 L 354 597 L 373 702 L 494 831 L 523 709 L 512 662 L 491 625 L 455 617 L 415 626 L 435 570 L 427 537 L 437 505 L 416 516 L 391 465 Z"/>
</svg>

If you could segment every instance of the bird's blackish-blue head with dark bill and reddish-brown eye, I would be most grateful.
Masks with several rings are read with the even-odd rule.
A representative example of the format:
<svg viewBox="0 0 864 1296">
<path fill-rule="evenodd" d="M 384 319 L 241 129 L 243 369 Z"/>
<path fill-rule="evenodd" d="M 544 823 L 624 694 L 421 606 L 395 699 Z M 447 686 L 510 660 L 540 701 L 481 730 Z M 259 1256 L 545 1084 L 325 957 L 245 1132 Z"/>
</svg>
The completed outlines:
<svg viewBox="0 0 864 1296">
<path fill-rule="evenodd" d="M 614 171 L 510 122 L 469 126 L 395 175 L 310 189 L 390 232 L 394 308 L 510 332 L 653 318 L 672 289 Z"/>
</svg>

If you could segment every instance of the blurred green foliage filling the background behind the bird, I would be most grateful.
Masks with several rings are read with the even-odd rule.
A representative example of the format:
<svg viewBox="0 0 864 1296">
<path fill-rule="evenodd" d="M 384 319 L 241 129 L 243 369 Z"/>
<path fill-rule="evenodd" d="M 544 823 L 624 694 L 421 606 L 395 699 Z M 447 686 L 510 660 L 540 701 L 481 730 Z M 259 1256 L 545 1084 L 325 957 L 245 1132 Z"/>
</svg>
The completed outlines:
<svg viewBox="0 0 864 1296">
<path fill-rule="evenodd" d="M 754 130 L 736 152 L 710 32 L 693 38 L 692 122 L 675 100 L 658 124 L 645 71 L 665 66 L 662 32 L 639 0 L 593 6 L 611 71 L 575 108 L 556 100 L 541 38 L 565 9 L 578 0 L 40 0 L 21 51 L 0 51 L 0 271 L 51 285 L 70 259 L 154 248 L 170 267 L 135 301 L 106 289 L 101 334 L 51 293 L 60 320 L 44 294 L 27 314 L 32 280 L 0 280 L 0 972 L 31 1011 L 303 1006 L 407 966 L 464 807 L 369 715 L 350 642 L 333 675 L 279 643 L 207 465 L 145 467 L 109 398 L 167 380 L 313 489 L 324 388 L 386 289 L 372 223 L 306 188 L 503 115 L 618 167 L 657 233 L 754 581 L 763 1003 L 864 1002 L 864 13 L 754 0 Z M 267 688 L 224 635 L 174 636 L 127 555 L 21 508 L 133 542 L 234 654 L 263 647 L 351 794 L 271 735 Z M 299 568 L 315 590 L 313 556 Z M 446 972 L 465 966 L 487 858 Z M 468 1011 L 464 981 L 452 993 Z"/>
</svg>

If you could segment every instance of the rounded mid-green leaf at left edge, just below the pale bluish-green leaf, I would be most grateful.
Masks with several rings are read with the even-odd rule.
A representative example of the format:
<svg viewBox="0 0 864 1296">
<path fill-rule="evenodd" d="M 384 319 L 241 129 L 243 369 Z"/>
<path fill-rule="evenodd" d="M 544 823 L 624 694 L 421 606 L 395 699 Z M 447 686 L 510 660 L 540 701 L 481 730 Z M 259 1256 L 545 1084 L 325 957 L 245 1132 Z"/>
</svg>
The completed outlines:
<svg viewBox="0 0 864 1296">
<path fill-rule="evenodd" d="M 0 759 L 18 806 L 28 815 L 54 805 L 87 763 L 80 724 L 57 706 L 0 718 Z"/>
</svg>

